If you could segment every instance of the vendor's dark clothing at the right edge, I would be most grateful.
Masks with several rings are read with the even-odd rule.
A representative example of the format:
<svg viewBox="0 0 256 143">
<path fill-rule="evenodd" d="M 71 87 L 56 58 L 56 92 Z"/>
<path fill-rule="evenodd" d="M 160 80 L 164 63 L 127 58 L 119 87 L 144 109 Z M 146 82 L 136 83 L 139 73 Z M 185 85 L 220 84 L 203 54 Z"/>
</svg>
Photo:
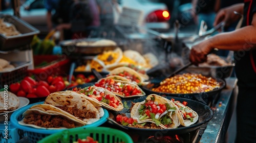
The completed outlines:
<svg viewBox="0 0 256 143">
<path fill-rule="evenodd" d="M 244 1 L 244 19 L 242 27 L 251 25 L 256 12 L 256 0 Z M 250 44 L 250 39 L 245 39 Z M 255 142 L 256 140 L 256 50 L 250 48 L 234 53 L 236 75 L 238 78 L 237 100 L 237 142 Z"/>
</svg>

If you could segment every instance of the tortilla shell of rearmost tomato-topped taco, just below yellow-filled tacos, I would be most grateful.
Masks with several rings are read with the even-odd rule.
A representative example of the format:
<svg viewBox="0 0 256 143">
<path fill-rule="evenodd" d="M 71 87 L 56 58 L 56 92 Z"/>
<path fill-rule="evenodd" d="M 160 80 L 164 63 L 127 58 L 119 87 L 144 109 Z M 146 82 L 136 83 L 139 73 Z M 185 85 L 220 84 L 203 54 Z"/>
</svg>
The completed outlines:
<svg viewBox="0 0 256 143">
<path fill-rule="evenodd" d="M 136 78 L 140 81 L 139 83 L 137 84 L 142 84 L 143 83 L 143 78 L 139 75 L 139 73 L 137 71 L 135 71 L 134 69 L 132 68 L 129 68 L 129 67 L 118 67 L 118 68 L 115 68 L 114 70 L 110 71 L 109 73 L 109 76 L 113 76 L 113 75 L 119 75 L 120 73 L 123 73 L 124 71 L 127 71 L 128 73 L 132 74 L 132 75 L 135 75 Z M 130 80 L 131 81 L 131 80 Z M 131 81 L 133 82 L 133 81 Z"/>
</svg>

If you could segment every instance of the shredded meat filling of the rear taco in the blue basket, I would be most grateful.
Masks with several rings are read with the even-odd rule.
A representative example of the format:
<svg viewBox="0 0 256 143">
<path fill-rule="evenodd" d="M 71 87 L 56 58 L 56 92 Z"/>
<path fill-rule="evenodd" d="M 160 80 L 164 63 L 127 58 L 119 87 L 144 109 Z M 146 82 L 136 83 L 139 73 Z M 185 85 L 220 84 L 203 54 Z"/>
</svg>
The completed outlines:
<svg viewBox="0 0 256 143">
<path fill-rule="evenodd" d="M 72 115 L 74 115 L 75 117 L 78 117 L 80 119 L 83 118 L 95 118 L 96 117 L 96 113 L 92 112 L 90 110 L 87 110 L 86 108 L 78 109 L 76 107 L 76 105 L 74 107 L 69 107 L 69 106 L 56 106 L 58 108 L 60 108 L 61 110 L 64 110 Z"/>
</svg>

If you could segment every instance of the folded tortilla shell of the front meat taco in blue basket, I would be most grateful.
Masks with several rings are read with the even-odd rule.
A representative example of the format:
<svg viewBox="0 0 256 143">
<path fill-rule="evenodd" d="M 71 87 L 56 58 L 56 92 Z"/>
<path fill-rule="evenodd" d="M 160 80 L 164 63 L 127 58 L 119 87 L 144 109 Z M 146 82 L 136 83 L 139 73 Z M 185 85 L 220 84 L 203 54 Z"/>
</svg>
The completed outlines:
<svg viewBox="0 0 256 143">
<path fill-rule="evenodd" d="M 26 112 L 23 113 L 24 118 L 22 121 L 19 121 L 18 123 L 20 125 L 30 126 L 30 127 L 34 127 L 34 128 L 38 128 L 38 129 L 66 129 L 62 125 L 60 125 L 59 127 L 50 127 L 51 124 L 56 126 L 56 121 L 54 122 L 54 121 L 47 120 L 46 121 L 47 123 L 43 123 L 42 120 L 40 121 L 38 118 L 35 118 L 34 121 L 31 121 L 31 118 L 30 118 L 29 120 L 30 120 L 31 124 L 29 124 L 29 123 L 27 124 L 25 122 L 28 122 L 29 120 L 26 121 L 25 118 L 27 115 L 30 115 L 30 114 L 51 115 L 51 116 L 56 116 L 58 118 L 61 117 L 65 121 L 73 122 L 75 127 L 80 127 L 80 126 L 85 125 L 81 120 L 79 120 L 75 116 L 73 116 L 73 115 L 69 114 L 68 112 L 63 111 L 55 106 L 49 105 L 49 104 L 38 104 L 38 105 L 32 106 L 30 109 L 28 109 Z M 36 121 L 40 121 L 40 122 L 35 123 Z M 58 123 L 62 124 L 59 121 L 58 121 Z M 38 125 L 35 125 L 35 124 L 38 124 Z M 41 125 L 44 124 L 44 125 L 42 125 L 43 127 L 41 127 L 41 126 L 39 126 L 39 124 L 41 124 Z M 49 128 L 46 126 L 49 126 Z"/>
</svg>

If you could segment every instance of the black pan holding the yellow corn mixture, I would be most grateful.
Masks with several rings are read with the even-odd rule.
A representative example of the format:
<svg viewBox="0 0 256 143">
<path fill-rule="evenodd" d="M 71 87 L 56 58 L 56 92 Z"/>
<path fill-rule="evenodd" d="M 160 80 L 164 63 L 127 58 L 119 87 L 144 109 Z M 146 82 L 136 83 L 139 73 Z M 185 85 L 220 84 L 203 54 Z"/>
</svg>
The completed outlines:
<svg viewBox="0 0 256 143">
<path fill-rule="evenodd" d="M 183 93 L 165 93 L 165 92 L 156 92 L 152 91 L 152 88 L 156 87 L 155 85 L 159 85 L 161 81 L 151 81 L 151 83 L 141 86 L 141 89 L 146 93 L 146 94 L 158 94 L 159 96 L 167 96 L 167 97 L 180 97 L 180 98 L 186 98 L 186 99 L 191 99 L 191 100 L 196 100 L 201 103 L 207 104 L 209 98 L 214 98 L 218 94 L 220 94 L 221 90 L 226 86 L 225 81 L 222 79 L 217 79 L 217 81 L 220 83 L 220 88 L 214 89 L 208 92 L 201 92 L 201 93 L 188 93 L 188 94 L 183 94 Z"/>
</svg>

